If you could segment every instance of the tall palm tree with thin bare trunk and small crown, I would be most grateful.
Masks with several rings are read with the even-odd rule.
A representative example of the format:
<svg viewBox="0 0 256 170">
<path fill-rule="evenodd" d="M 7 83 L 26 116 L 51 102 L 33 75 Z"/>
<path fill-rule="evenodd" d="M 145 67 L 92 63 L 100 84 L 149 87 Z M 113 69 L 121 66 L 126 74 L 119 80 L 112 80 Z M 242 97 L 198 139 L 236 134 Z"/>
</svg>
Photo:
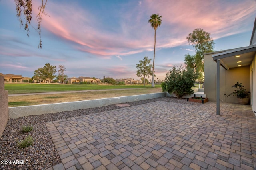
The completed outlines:
<svg viewBox="0 0 256 170">
<path fill-rule="evenodd" d="M 161 25 L 162 23 L 162 16 L 159 16 L 159 14 L 152 14 L 150 16 L 150 19 L 148 20 L 148 23 L 150 23 L 151 27 L 155 30 L 155 44 L 154 44 L 154 59 L 153 59 L 153 69 L 152 69 L 152 87 L 155 87 L 154 83 L 154 64 L 155 64 L 155 53 L 156 53 L 156 29 Z"/>
</svg>

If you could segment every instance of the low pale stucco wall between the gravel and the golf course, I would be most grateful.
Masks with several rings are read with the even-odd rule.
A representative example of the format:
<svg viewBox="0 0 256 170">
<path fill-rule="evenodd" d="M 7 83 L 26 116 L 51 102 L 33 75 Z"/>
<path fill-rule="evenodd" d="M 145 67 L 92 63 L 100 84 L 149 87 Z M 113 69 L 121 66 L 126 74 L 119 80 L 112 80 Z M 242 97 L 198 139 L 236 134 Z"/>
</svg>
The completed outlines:
<svg viewBox="0 0 256 170">
<path fill-rule="evenodd" d="M 29 115 L 42 115 L 46 113 L 57 113 L 62 111 L 88 109 L 88 108 L 108 106 L 112 104 L 134 102 L 139 100 L 146 100 L 146 99 L 153 99 L 153 98 L 160 98 L 160 97 L 166 97 L 166 93 L 161 92 L 161 93 L 134 95 L 134 96 L 104 98 L 104 99 L 96 99 L 96 100 L 84 100 L 84 101 L 77 101 L 77 102 L 9 107 L 9 118 L 15 119 L 18 117 L 24 117 Z"/>
</svg>

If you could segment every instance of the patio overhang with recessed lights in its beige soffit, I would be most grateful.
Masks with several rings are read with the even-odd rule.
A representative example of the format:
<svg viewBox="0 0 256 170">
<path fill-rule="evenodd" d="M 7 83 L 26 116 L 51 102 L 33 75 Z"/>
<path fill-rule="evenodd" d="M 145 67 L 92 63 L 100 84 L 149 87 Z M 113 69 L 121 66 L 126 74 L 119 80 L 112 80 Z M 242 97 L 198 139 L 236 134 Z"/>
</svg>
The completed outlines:
<svg viewBox="0 0 256 170">
<path fill-rule="evenodd" d="M 250 65 L 255 53 L 256 44 L 214 54 L 212 58 L 214 61 L 220 60 L 221 66 L 229 70 L 230 68 Z"/>
</svg>

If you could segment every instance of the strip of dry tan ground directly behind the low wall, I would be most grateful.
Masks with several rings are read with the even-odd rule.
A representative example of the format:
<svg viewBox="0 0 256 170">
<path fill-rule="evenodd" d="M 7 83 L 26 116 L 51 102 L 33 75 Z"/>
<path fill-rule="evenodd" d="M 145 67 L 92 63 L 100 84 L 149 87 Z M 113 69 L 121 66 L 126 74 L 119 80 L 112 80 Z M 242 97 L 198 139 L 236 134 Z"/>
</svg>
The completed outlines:
<svg viewBox="0 0 256 170">
<path fill-rule="evenodd" d="M 101 98 L 112 98 L 120 96 L 132 96 L 138 94 L 149 94 L 162 92 L 161 88 L 138 88 L 126 90 L 88 91 L 62 94 L 37 94 L 28 96 L 9 96 L 9 107 L 28 106 L 38 104 L 51 104 L 61 102 L 74 102 L 81 100 L 92 100 Z"/>
</svg>

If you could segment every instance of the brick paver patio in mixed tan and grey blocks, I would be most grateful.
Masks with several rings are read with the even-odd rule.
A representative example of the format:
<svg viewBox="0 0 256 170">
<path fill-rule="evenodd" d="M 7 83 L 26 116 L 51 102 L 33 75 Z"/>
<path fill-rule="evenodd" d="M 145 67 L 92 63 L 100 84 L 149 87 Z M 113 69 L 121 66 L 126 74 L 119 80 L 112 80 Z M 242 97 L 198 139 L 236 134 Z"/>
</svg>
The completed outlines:
<svg viewBox="0 0 256 170">
<path fill-rule="evenodd" d="M 46 123 L 61 170 L 256 167 L 251 106 L 152 102 Z"/>
</svg>

